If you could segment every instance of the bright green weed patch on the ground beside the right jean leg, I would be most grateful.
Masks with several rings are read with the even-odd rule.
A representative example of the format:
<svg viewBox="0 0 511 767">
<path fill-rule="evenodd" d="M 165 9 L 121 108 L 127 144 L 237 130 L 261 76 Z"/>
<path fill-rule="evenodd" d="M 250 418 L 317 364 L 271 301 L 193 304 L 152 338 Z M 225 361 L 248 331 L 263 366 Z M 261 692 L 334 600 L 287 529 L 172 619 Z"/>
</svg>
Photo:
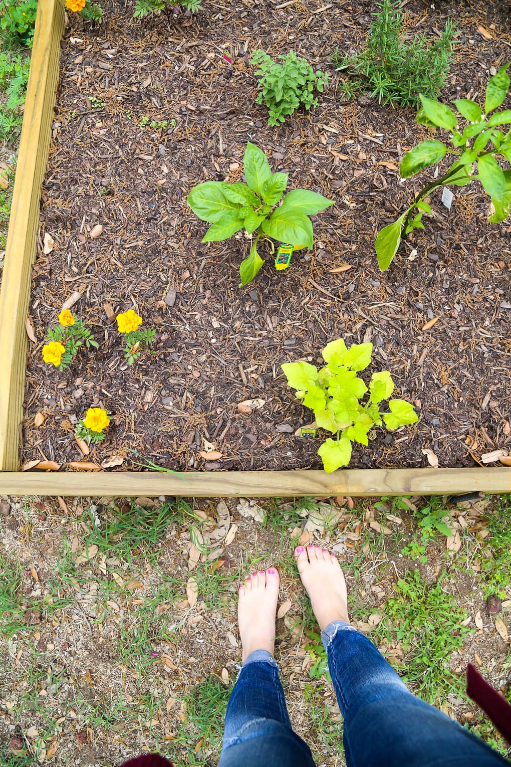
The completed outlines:
<svg viewBox="0 0 511 767">
<path fill-rule="evenodd" d="M 471 633 L 461 625 L 467 616 L 455 598 L 442 591 L 444 578 L 445 571 L 435 584 L 427 584 L 420 571 L 407 571 L 395 585 L 395 596 L 385 604 L 386 617 L 372 635 L 388 644 L 402 643 L 401 678 L 430 703 L 463 689 L 463 680 L 448 669 L 447 660 Z"/>
</svg>

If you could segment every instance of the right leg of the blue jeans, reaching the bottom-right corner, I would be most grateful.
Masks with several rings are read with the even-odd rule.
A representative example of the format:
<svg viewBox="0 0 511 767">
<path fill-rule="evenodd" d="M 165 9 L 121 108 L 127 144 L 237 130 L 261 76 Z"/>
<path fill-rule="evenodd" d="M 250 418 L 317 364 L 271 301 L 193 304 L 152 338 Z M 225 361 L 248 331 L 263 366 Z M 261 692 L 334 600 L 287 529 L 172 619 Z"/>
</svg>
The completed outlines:
<svg viewBox="0 0 511 767">
<path fill-rule="evenodd" d="M 322 632 L 348 767 L 497 767 L 509 762 L 414 696 L 374 644 L 334 621 Z"/>
</svg>

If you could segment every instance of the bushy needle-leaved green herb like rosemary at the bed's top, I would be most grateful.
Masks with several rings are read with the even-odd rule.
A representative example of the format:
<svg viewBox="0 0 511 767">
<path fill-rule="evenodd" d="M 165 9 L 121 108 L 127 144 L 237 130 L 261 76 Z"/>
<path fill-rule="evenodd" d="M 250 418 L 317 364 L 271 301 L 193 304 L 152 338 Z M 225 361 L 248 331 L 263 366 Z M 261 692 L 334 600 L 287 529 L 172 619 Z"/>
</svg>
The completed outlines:
<svg viewBox="0 0 511 767">
<path fill-rule="evenodd" d="M 402 39 L 403 18 L 399 2 L 382 0 L 364 51 L 346 56 L 333 53 L 336 71 L 346 72 L 352 79 L 345 81 L 349 96 L 371 90 L 378 104 L 418 106 L 418 94 L 437 96 L 444 87 L 452 60 L 454 24 L 447 21 L 441 38 L 427 41 L 425 35 L 415 35 L 411 41 Z"/>
</svg>

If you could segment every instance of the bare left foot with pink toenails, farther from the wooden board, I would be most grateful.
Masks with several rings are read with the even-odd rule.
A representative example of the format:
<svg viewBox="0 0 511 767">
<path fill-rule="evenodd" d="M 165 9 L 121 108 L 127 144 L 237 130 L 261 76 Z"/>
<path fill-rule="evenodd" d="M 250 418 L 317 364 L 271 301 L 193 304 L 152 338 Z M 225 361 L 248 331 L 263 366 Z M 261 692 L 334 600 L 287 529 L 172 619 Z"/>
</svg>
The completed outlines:
<svg viewBox="0 0 511 767">
<path fill-rule="evenodd" d="M 275 568 L 254 573 L 240 586 L 237 621 L 244 661 L 254 650 L 275 649 L 275 613 L 279 596 L 279 574 Z"/>
</svg>

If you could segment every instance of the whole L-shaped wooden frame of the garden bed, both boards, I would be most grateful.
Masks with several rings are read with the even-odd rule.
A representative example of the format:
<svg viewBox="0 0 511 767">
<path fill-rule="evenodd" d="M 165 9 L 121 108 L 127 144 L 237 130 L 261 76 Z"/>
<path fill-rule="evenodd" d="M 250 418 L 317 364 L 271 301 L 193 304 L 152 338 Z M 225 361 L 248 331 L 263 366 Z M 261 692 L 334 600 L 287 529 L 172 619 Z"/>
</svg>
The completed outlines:
<svg viewBox="0 0 511 767">
<path fill-rule="evenodd" d="M 511 469 L 342 469 L 260 472 L 21 472 L 31 268 L 41 183 L 50 147 L 58 81 L 63 0 L 41 0 L 21 130 L 5 268 L 0 292 L 0 494 L 185 497 L 444 495 L 511 492 Z"/>
</svg>

